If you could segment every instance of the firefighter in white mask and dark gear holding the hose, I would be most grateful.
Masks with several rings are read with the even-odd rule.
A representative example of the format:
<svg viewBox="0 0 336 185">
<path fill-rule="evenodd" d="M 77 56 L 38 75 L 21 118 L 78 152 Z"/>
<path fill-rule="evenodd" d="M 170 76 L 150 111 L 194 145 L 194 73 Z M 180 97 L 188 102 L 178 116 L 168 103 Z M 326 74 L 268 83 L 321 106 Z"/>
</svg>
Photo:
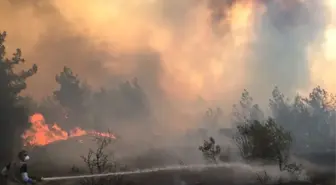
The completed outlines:
<svg viewBox="0 0 336 185">
<path fill-rule="evenodd" d="M 32 178 L 28 175 L 27 161 L 28 152 L 22 150 L 18 154 L 17 160 L 8 163 L 1 171 L 5 177 L 7 185 L 32 185 L 42 181 L 42 178 Z"/>
</svg>

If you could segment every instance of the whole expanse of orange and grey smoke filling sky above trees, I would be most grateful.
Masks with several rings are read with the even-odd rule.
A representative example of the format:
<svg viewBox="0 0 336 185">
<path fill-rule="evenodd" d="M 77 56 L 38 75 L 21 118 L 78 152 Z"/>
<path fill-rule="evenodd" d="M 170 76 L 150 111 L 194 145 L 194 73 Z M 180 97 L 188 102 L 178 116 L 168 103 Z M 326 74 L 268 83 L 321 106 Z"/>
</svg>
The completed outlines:
<svg viewBox="0 0 336 185">
<path fill-rule="evenodd" d="M 39 66 L 26 91 L 35 98 L 50 95 L 65 65 L 94 88 L 137 77 L 158 117 L 179 128 L 207 106 L 230 107 L 243 88 L 265 104 L 275 85 L 290 95 L 322 73 L 331 78 L 334 67 L 320 61 L 333 59 L 317 52 L 333 33 L 327 3 L 4 0 L 0 29 L 9 52 L 20 47 L 27 65 Z"/>
</svg>

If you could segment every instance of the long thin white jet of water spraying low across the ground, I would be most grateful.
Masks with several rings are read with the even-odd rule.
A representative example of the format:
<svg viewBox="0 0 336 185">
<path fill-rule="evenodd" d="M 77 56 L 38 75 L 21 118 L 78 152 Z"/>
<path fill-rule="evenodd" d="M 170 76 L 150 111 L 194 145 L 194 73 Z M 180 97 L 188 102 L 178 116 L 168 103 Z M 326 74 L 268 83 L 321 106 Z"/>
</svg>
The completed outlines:
<svg viewBox="0 0 336 185">
<path fill-rule="evenodd" d="M 63 176 L 63 177 L 46 177 L 43 178 L 43 181 L 58 181 L 58 180 L 73 180 L 73 179 L 82 179 L 82 178 L 97 178 L 97 177 L 107 177 L 107 176 L 120 176 L 120 175 L 134 175 L 134 174 L 145 174 L 145 173 L 155 173 L 162 171 L 176 171 L 176 170 L 203 170 L 211 168 L 222 168 L 222 167 L 248 167 L 242 166 L 242 164 L 195 164 L 195 165 L 175 165 L 167 166 L 161 168 L 149 168 L 149 169 L 139 169 L 134 171 L 125 171 L 125 172 L 114 172 L 114 173 L 102 173 L 102 174 L 90 174 L 90 175 L 76 175 L 76 176 Z M 251 169 L 250 169 L 251 170 Z"/>
</svg>

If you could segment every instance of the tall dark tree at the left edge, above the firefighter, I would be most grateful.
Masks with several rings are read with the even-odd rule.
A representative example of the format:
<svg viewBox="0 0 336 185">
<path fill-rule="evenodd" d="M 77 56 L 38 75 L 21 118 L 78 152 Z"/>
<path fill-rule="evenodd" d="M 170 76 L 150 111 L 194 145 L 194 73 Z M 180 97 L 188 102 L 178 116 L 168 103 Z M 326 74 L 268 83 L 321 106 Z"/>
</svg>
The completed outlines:
<svg viewBox="0 0 336 185">
<path fill-rule="evenodd" d="M 6 32 L 0 33 L 0 123 L 1 147 L 0 159 L 8 160 L 14 152 L 13 146 L 20 146 L 19 135 L 26 127 L 28 112 L 20 103 L 19 95 L 26 87 L 26 79 L 37 72 L 34 64 L 30 69 L 15 72 L 15 67 L 24 59 L 20 49 L 11 58 L 6 58 Z"/>
</svg>

